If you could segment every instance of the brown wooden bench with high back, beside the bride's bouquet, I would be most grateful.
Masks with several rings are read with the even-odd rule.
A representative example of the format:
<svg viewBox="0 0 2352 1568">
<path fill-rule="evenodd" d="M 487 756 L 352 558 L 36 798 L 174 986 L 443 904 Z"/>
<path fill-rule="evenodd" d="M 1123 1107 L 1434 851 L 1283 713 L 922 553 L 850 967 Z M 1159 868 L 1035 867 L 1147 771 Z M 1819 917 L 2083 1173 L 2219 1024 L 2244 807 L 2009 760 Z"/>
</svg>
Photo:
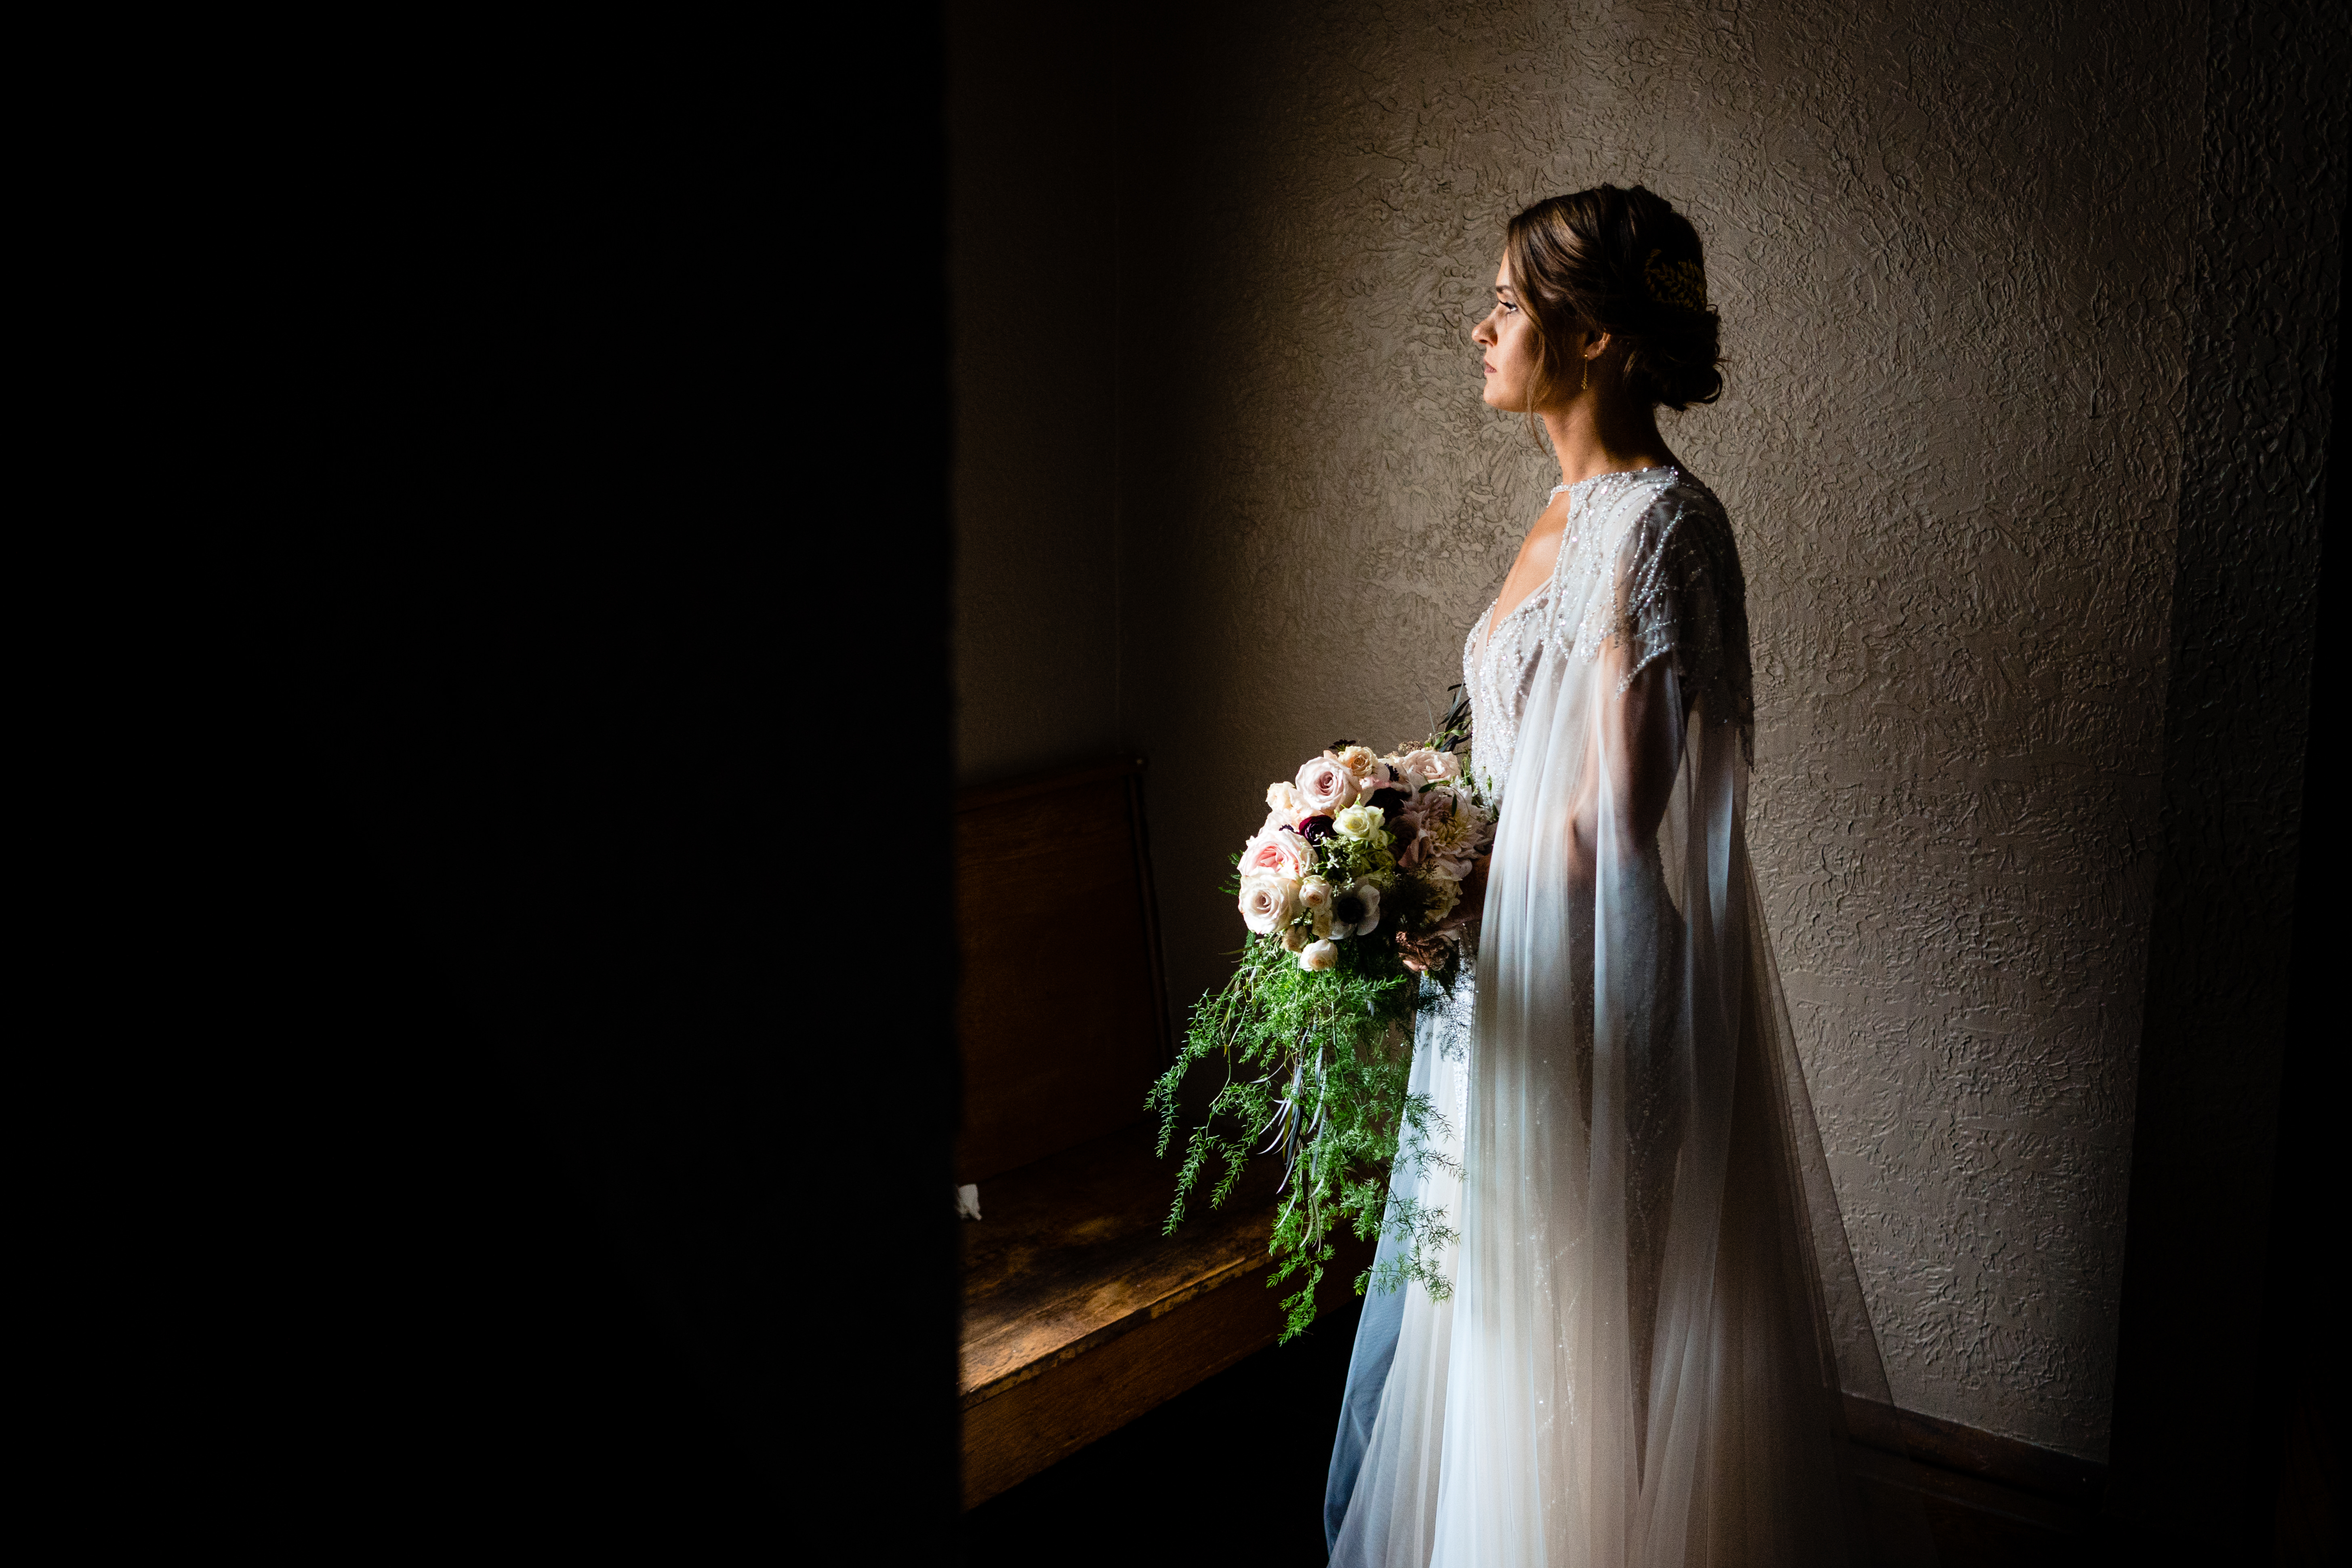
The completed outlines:
<svg viewBox="0 0 2352 1568">
<path fill-rule="evenodd" d="M 1143 1095 L 1171 1060 L 1141 762 L 957 799 L 964 1131 L 964 1507 L 1282 1331 L 1272 1159 L 1162 1237 L 1176 1159 Z M 1247 802 L 1244 802 L 1247 804 Z M 1362 1258 L 1357 1258 L 1362 1253 Z M 1345 1248 L 1324 1307 L 1371 1248 Z M 1334 1410 L 1334 1420 L 1338 1413 Z"/>
</svg>

